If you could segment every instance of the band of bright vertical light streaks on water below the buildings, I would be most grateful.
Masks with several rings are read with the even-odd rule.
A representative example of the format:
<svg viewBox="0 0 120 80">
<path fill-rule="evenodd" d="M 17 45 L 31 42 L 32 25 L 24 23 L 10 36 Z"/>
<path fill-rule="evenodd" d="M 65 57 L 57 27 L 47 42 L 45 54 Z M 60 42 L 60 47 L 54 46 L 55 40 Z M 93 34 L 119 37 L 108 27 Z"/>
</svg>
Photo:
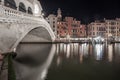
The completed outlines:
<svg viewBox="0 0 120 80">
<path fill-rule="evenodd" d="M 113 52 L 113 48 L 115 49 Z M 95 60 L 102 61 L 104 59 L 111 62 L 115 55 L 120 55 L 120 44 L 56 44 L 56 55 L 58 56 L 58 63 L 60 62 L 61 58 L 72 58 L 78 57 L 80 58 L 80 62 L 83 61 L 84 58 L 93 57 Z M 65 56 L 64 56 L 65 55 Z M 107 59 L 108 58 L 108 59 Z"/>
</svg>

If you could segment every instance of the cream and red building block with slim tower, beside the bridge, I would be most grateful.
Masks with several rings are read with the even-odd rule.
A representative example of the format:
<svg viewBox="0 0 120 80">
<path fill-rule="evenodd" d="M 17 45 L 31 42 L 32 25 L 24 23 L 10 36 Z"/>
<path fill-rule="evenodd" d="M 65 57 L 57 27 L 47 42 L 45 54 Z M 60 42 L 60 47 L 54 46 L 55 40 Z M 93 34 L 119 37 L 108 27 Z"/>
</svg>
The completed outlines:
<svg viewBox="0 0 120 80">
<path fill-rule="evenodd" d="M 56 37 L 64 38 L 70 36 L 72 38 L 79 38 L 86 36 L 86 26 L 73 17 L 65 17 L 62 20 L 62 11 L 60 8 L 57 10 L 57 16 L 50 14 L 46 20 L 53 29 Z"/>
</svg>

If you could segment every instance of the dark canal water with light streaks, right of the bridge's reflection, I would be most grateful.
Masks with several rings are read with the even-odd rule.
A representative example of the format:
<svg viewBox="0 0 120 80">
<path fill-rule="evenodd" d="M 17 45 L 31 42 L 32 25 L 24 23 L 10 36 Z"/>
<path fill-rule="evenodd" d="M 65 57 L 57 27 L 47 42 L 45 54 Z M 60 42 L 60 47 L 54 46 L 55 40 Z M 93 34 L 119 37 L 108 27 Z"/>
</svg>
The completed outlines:
<svg viewBox="0 0 120 80">
<path fill-rule="evenodd" d="M 120 44 L 55 44 L 47 80 L 119 80 Z"/>
</svg>

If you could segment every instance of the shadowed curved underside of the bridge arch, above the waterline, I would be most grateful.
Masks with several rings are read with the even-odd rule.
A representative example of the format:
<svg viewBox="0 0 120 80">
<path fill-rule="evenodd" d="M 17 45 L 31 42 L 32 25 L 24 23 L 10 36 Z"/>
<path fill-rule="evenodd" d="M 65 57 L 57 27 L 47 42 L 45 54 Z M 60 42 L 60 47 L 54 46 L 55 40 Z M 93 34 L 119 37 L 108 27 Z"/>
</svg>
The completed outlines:
<svg viewBox="0 0 120 80">
<path fill-rule="evenodd" d="M 44 27 L 37 27 L 25 35 L 21 42 L 52 42 L 52 39 Z"/>
</svg>

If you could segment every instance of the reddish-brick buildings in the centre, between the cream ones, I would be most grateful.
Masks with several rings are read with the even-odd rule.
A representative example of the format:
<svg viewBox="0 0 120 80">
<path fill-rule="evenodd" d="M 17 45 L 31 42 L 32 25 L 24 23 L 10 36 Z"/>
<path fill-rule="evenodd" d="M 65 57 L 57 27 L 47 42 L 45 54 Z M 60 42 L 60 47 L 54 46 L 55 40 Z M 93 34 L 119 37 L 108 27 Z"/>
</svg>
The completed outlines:
<svg viewBox="0 0 120 80">
<path fill-rule="evenodd" d="M 70 36 L 72 38 L 80 38 L 86 36 L 86 26 L 82 25 L 73 17 L 65 17 L 63 21 L 57 24 L 57 32 L 60 37 Z"/>
</svg>

